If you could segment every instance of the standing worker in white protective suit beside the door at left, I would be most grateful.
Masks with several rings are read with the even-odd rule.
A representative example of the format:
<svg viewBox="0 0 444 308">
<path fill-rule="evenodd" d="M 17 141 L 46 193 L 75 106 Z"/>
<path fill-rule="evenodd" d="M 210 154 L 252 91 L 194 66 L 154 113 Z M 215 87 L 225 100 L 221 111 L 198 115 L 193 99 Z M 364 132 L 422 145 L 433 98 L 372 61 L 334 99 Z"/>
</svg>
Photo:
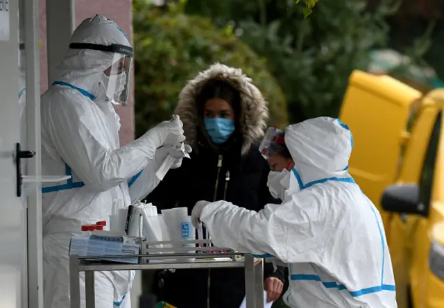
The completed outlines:
<svg viewBox="0 0 444 308">
<path fill-rule="evenodd" d="M 108 221 L 112 203 L 128 207 L 158 184 L 168 154 L 185 140 L 178 117 L 121 147 L 114 104 L 126 105 L 133 49 L 117 24 L 102 15 L 74 31 L 56 81 L 42 95 L 42 175 L 70 176 L 42 185 L 44 307 L 69 307 L 69 240 L 80 225 Z M 163 147 L 161 147 L 163 146 Z M 156 149 L 159 148 L 157 151 Z M 189 148 L 187 148 L 190 151 Z M 97 308 L 130 307 L 130 271 L 95 274 Z M 80 301 L 85 307 L 84 277 Z"/>
</svg>

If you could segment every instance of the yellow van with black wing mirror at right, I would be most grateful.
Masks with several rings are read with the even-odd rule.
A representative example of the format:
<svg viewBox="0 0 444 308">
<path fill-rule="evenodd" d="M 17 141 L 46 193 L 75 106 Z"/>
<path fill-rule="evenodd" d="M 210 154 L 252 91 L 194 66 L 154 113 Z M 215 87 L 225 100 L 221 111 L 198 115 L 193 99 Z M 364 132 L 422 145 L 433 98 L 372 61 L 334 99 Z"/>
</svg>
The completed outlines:
<svg viewBox="0 0 444 308">
<path fill-rule="evenodd" d="M 422 96 L 363 71 L 341 106 L 354 139 L 350 173 L 381 211 L 400 308 L 444 307 L 443 109 L 444 89 Z"/>
</svg>

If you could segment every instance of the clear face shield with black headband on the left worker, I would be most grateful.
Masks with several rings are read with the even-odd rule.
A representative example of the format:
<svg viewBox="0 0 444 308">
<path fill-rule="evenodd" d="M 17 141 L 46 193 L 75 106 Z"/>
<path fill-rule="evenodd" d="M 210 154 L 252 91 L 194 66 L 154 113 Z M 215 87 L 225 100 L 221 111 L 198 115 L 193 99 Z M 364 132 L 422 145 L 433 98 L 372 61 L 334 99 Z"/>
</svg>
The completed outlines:
<svg viewBox="0 0 444 308">
<path fill-rule="evenodd" d="M 91 49 L 112 53 L 112 65 L 103 71 L 103 87 L 107 99 L 115 105 L 128 105 L 133 49 L 112 44 L 109 46 L 89 43 L 71 43 L 70 49 Z"/>
</svg>

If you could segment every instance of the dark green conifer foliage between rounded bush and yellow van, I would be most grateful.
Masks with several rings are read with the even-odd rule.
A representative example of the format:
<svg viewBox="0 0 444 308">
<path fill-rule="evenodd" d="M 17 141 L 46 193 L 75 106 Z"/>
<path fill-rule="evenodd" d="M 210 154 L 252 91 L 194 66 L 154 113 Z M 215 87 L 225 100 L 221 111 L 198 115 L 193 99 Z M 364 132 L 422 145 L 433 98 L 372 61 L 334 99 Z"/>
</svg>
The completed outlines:
<svg viewBox="0 0 444 308">
<path fill-rule="evenodd" d="M 384 17 L 396 11 L 398 1 L 382 0 L 371 11 L 366 0 L 322 1 L 306 19 L 305 6 L 294 3 L 188 0 L 187 12 L 233 26 L 241 40 L 268 59 L 287 96 L 291 122 L 337 116 L 352 70 L 366 69 L 368 51 L 385 46 Z"/>
</svg>

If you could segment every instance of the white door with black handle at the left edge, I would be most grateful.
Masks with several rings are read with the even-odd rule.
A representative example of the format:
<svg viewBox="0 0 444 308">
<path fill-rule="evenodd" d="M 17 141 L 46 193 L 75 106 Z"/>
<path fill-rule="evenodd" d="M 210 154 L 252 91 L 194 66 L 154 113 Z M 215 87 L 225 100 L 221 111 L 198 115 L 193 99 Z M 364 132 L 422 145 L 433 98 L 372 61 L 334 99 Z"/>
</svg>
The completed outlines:
<svg viewBox="0 0 444 308">
<path fill-rule="evenodd" d="M 27 307 L 26 209 L 17 196 L 15 148 L 20 140 L 18 1 L 0 0 L 0 298 Z M 26 297 L 25 297 L 26 298 Z"/>
</svg>

